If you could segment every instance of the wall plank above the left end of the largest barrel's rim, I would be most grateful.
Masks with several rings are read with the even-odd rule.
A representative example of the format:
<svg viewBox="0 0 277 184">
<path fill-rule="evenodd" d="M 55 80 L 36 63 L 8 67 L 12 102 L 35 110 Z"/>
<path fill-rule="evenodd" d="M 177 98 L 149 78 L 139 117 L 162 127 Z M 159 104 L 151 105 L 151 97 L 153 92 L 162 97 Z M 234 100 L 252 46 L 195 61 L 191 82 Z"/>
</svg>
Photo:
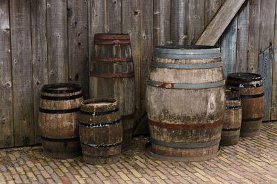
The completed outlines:
<svg viewBox="0 0 277 184">
<path fill-rule="evenodd" d="M 168 45 L 170 41 L 170 0 L 154 1 L 154 46 Z"/>
</svg>

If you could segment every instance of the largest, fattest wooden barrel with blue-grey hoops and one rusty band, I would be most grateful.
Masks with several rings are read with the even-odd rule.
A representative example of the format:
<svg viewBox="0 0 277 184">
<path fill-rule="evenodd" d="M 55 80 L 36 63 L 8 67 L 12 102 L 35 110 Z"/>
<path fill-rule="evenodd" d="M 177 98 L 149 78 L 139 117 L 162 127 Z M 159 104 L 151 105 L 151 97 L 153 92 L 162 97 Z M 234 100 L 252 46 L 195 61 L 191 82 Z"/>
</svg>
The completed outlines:
<svg viewBox="0 0 277 184">
<path fill-rule="evenodd" d="M 217 155 L 225 101 L 220 48 L 158 46 L 151 66 L 146 105 L 152 152 L 194 161 Z"/>
</svg>

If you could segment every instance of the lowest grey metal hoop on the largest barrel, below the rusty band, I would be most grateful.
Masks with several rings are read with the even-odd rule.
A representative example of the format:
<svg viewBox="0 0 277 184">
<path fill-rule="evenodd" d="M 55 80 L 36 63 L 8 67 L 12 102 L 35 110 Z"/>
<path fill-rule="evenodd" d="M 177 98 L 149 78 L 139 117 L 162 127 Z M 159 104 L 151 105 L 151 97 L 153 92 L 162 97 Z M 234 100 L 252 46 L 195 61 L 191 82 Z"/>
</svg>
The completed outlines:
<svg viewBox="0 0 277 184">
<path fill-rule="evenodd" d="M 220 139 L 215 139 L 210 142 L 206 143 L 168 143 L 166 141 L 159 141 L 157 139 L 151 139 L 152 143 L 156 145 L 161 145 L 164 147 L 174 147 L 174 148 L 181 148 L 181 149 L 195 149 L 195 148 L 203 148 L 203 147 L 211 147 L 213 145 L 217 145 L 220 143 Z"/>
</svg>

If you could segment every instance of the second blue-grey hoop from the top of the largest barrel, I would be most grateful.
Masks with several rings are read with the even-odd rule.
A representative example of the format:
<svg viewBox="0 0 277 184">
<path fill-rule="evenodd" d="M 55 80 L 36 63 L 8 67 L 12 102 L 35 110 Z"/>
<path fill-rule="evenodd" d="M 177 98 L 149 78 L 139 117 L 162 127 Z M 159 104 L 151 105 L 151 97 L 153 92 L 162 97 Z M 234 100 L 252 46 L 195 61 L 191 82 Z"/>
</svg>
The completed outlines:
<svg viewBox="0 0 277 184">
<path fill-rule="evenodd" d="M 175 64 L 175 63 L 159 63 L 152 62 L 151 66 L 157 68 L 172 68 L 172 69 L 208 69 L 221 67 L 223 62 L 217 63 L 202 63 L 202 64 Z"/>
</svg>

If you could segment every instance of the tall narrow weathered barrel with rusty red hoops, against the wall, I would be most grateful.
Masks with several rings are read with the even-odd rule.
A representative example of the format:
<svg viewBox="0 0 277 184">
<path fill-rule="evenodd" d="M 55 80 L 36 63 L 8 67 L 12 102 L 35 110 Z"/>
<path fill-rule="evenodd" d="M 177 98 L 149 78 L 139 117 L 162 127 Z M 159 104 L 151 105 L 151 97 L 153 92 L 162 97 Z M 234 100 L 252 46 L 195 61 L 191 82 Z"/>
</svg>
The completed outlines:
<svg viewBox="0 0 277 184">
<path fill-rule="evenodd" d="M 134 66 L 129 34 L 95 34 L 91 68 L 91 98 L 118 99 L 125 150 L 132 141 L 135 110 Z"/>
</svg>

